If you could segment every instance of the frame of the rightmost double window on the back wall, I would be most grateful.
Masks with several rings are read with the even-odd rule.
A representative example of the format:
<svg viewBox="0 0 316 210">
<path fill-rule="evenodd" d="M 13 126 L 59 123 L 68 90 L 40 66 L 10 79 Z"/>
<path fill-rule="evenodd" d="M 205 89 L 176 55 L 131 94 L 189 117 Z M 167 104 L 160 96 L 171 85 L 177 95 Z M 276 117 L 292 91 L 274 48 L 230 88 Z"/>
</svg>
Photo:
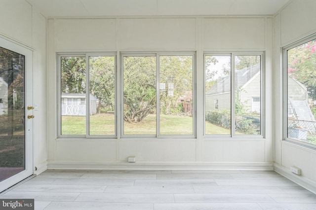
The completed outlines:
<svg viewBox="0 0 316 210">
<path fill-rule="evenodd" d="M 230 56 L 231 57 L 231 134 L 205 134 L 205 57 Z M 260 56 L 260 135 L 235 134 L 235 56 Z M 204 52 L 203 53 L 203 136 L 204 138 L 234 138 L 234 139 L 264 139 L 265 138 L 265 52 Z"/>
</svg>

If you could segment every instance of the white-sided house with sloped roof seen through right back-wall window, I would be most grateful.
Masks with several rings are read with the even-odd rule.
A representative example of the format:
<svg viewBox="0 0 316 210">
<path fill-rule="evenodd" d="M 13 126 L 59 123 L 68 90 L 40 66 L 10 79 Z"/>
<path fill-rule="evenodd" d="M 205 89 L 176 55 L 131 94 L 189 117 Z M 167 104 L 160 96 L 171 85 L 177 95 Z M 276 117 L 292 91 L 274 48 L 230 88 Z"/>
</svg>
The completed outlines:
<svg viewBox="0 0 316 210">
<path fill-rule="evenodd" d="M 260 64 L 236 72 L 237 99 L 244 108 L 260 112 Z M 205 111 L 231 108 L 231 76 L 219 78 L 205 94 Z"/>
</svg>

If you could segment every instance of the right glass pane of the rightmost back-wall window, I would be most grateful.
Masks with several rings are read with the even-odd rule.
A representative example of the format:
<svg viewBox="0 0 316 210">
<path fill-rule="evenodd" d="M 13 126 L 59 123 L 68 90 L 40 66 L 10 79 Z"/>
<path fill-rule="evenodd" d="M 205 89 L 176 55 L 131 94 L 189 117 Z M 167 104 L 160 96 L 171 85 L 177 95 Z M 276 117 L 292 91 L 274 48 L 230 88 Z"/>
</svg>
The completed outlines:
<svg viewBox="0 0 316 210">
<path fill-rule="evenodd" d="M 235 56 L 235 134 L 261 134 L 260 56 Z"/>
</svg>

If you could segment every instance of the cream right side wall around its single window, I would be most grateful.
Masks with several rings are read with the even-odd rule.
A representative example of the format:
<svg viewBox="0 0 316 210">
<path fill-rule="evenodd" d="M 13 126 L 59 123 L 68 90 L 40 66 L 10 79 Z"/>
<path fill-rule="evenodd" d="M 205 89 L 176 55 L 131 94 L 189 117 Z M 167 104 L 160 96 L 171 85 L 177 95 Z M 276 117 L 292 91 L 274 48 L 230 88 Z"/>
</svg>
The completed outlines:
<svg viewBox="0 0 316 210">
<path fill-rule="evenodd" d="M 293 0 L 274 19 L 274 133 L 275 169 L 306 188 L 316 192 L 316 151 L 282 141 L 282 63 L 281 49 L 301 38 L 316 33 L 316 1 Z M 290 173 L 290 167 L 302 170 L 302 175 Z"/>
</svg>

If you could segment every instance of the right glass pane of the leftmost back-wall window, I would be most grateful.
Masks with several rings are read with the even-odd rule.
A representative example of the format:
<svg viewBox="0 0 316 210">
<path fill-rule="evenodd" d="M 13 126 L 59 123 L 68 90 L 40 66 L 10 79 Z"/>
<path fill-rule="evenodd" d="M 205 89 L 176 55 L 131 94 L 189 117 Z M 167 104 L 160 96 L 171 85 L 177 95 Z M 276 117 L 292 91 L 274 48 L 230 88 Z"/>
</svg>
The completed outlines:
<svg viewBox="0 0 316 210">
<path fill-rule="evenodd" d="M 89 135 L 115 135 L 115 58 L 89 57 Z"/>
</svg>

